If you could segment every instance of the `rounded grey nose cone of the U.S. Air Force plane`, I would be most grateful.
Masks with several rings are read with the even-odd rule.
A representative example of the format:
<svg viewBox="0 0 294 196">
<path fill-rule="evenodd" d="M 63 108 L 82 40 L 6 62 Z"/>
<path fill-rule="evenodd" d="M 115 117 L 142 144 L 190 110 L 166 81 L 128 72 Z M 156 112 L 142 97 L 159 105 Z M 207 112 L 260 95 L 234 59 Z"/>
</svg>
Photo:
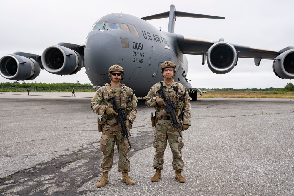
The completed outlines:
<svg viewBox="0 0 294 196">
<path fill-rule="evenodd" d="M 98 74 L 107 74 L 110 66 L 118 61 L 118 40 L 109 33 L 96 33 L 85 44 L 85 66 Z"/>
</svg>

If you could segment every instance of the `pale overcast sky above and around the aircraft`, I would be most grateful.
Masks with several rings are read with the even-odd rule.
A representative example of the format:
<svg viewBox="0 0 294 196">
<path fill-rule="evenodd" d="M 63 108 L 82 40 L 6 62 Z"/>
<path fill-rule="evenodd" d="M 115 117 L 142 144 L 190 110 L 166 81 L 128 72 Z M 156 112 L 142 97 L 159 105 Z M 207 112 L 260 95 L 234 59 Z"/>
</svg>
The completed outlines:
<svg viewBox="0 0 294 196">
<path fill-rule="evenodd" d="M 59 42 L 85 43 L 92 25 L 106 14 L 123 12 L 138 17 L 169 11 L 174 4 L 177 11 L 225 17 L 196 19 L 178 17 L 175 33 L 228 43 L 281 50 L 294 45 L 294 1 L 281 0 L 161 0 L 161 1 L 76 1 L 76 0 L 1 0 L 0 1 L 0 57 L 16 51 L 42 54 L 48 46 Z M 148 21 L 167 31 L 168 18 Z M 186 55 L 189 68 L 187 78 L 198 88 L 269 88 L 284 87 L 290 80 L 275 76 L 273 60 L 238 59 L 229 73 L 219 75 L 201 64 L 201 56 Z M 85 68 L 71 76 L 59 76 L 41 70 L 35 80 L 26 83 L 90 83 Z M 0 76 L 0 82 L 12 82 Z M 292 82 L 293 83 L 293 82 Z"/>
</svg>

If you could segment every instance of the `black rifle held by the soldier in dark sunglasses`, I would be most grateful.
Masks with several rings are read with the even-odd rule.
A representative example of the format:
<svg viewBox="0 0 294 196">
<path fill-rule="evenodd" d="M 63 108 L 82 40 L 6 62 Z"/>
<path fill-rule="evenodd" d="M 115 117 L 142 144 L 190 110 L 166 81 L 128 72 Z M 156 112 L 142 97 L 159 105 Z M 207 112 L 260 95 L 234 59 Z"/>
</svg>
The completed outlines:
<svg viewBox="0 0 294 196">
<path fill-rule="evenodd" d="M 132 148 L 131 143 L 130 143 L 130 140 L 128 139 L 128 137 L 131 136 L 131 134 L 128 134 L 127 129 L 126 129 L 126 124 L 125 124 L 125 120 L 128 119 L 127 118 L 126 111 L 125 110 L 121 110 L 118 107 L 115 97 L 109 98 L 108 100 L 113 105 L 113 109 L 116 111 L 116 113 L 118 113 L 118 116 L 117 117 L 114 117 L 114 118 L 115 118 L 115 120 L 116 120 L 117 123 L 118 122 L 121 123 L 121 134 L 123 135 L 123 137 L 126 136 L 126 138 L 128 140 L 128 143 L 130 145 L 130 148 Z"/>
</svg>

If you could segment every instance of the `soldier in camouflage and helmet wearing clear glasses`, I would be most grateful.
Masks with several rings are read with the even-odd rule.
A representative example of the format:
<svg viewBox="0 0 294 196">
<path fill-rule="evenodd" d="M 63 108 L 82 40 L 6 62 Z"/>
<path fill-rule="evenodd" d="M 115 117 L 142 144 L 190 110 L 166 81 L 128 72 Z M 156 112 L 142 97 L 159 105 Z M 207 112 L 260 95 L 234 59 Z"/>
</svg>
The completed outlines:
<svg viewBox="0 0 294 196">
<path fill-rule="evenodd" d="M 156 118 L 158 120 L 153 140 L 153 147 L 155 148 L 153 167 L 156 169 L 156 172 L 151 178 L 151 181 L 158 182 L 161 178 L 161 170 L 163 169 L 164 162 L 163 154 L 168 140 L 173 155 L 172 166 L 176 173 L 175 178 L 178 182 L 185 182 L 185 178 L 181 174 L 184 168 L 184 161 L 182 159 L 182 148 L 184 146 L 183 137 L 180 137 L 178 129 L 175 126 L 172 126 L 170 113 L 164 113 L 163 109 L 165 108 L 166 103 L 157 91 L 162 86 L 167 98 L 175 102 L 177 108 L 174 110 L 174 114 L 180 119 L 178 123 L 181 135 L 183 135 L 183 131 L 188 129 L 191 125 L 190 97 L 188 92 L 185 94 L 185 91 L 187 91 L 186 88 L 182 84 L 173 80 L 173 77 L 176 75 L 175 63 L 166 61 L 161 64 L 160 69 L 163 82 L 156 83 L 151 87 L 145 103 L 148 108 L 155 108 L 157 114 Z M 183 98 L 184 95 L 185 97 Z M 163 111 L 163 114 L 159 113 L 160 111 Z"/>
</svg>

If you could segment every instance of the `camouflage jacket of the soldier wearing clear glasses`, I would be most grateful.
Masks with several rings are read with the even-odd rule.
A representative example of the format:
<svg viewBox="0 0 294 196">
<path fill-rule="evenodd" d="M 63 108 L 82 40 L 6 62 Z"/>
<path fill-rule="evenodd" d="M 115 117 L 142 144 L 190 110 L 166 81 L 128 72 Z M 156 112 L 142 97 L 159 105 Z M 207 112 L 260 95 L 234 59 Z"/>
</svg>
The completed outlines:
<svg viewBox="0 0 294 196">
<path fill-rule="evenodd" d="M 165 106 L 158 106 L 156 105 L 155 99 L 157 97 L 162 98 L 160 93 L 157 93 L 157 91 L 160 89 L 161 84 L 156 83 L 153 85 L 150 89 L 150 91 L 147 94 L 145 105 L 148 108 L 154 107 L 156 112 L 159 112 L 165 108 Z M 169 86 L 169 88 L 168 88 Z M 178 86 L 178 91 L 175 91 L 173 86 Z M 186 88 L 182 84 L 178 83 L 177 81 L 173 81 L 171 85 L 167 85 L 163 81 L 163 89 L 166 93 L 166 96 L 169 100 L 174 101 L 176 103 L 177 109 L 174 110 L 174 113 L 176 116 L 179 116 L 181 114 L 181 111 L 184 109 L 184 115 L 183 115 L 183 124 L 185 125 L 191 125 L 191 105 L 190 105 L 190 96 L 188 95 L 188 92 L 186 92 L 186 96 L 181 102 L 181 98 L 184 95 Z M 163 114 L 163 116 L 169 115 L 168 113 Z M 181 119 L 180 119 L 181 120 Z"/>
</svg>

